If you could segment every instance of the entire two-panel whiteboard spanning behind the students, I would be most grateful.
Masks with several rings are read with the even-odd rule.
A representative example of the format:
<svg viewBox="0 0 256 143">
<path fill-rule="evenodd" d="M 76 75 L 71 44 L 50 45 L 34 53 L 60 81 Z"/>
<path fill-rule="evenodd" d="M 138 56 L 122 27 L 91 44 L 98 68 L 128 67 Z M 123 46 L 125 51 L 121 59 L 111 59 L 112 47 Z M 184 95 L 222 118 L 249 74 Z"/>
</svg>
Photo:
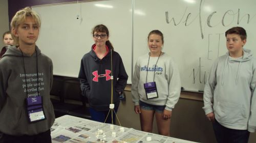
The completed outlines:
<svg viewBox="0 0 256 143">
<path fill-rule="evenodd" d="M 227 51 L 229 28 L 245 28 L 244 47 L 256 56 L 255 8 L 254 0 L 110 0 L 33 7 L 42 19 L 37 45 L 52 59 L 55 75 L 78 76 L 80 60 L 94 43 L 92 28 L 105 24 L 131 83 L 138 57 L 149 51 L 147 35 L 157 29 L 188 91 L 204 89 L 212 63 Z"/>
</svg>

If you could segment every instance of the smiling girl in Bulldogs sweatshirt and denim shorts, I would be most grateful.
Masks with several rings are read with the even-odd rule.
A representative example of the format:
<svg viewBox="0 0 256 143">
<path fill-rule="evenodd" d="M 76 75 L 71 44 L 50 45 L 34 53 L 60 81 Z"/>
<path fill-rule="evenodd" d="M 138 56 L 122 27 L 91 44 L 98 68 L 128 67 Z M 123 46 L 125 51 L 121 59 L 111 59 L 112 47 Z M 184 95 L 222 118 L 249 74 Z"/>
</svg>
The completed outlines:
<svg viewBox="0 0 256 143">
<path fill-rule="evenodd" d="M 134 110 L 140 114 L 142 131 L 152 132 L 155 115 L 158 133 L 169 136 L 172 110 L 180 97 L 180 74 L 173 59 L 162 52 L 162 32 L 151 31 L 147 44 L 150 52 L 140 56 L 134 68 Z"/>
</svg>

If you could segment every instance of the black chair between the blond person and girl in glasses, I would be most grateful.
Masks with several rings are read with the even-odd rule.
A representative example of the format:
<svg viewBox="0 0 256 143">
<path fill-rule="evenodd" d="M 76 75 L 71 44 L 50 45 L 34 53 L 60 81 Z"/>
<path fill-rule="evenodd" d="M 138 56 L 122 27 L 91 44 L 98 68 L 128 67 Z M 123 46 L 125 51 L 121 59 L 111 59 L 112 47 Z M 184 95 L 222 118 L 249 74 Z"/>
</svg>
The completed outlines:
<svg viewBox="0 0 256 143">
<path fill-rule="evenodd" d="M 53 98 L 57 97 L 57 99 Z M 78 78 L 55 76 L 51 90 L 55 117 L 72 115 L 91 119 L 86 98 L 82 97 Z"/>
</svg>

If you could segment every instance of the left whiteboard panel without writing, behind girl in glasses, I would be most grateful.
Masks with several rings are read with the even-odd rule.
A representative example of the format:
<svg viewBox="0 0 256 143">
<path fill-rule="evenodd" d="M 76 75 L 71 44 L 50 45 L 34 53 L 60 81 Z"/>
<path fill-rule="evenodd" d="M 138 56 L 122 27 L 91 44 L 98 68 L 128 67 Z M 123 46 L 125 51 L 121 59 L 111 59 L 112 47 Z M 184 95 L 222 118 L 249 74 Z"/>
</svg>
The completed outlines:
<svg viewBox="0 0 256 143">
<path fill-rule="evenodd" d="M 132 1 L 112 0 L 33 7 L 41 17 L 36 45 L 53 61 L 53 74 L 78 77 L 82 56 L 94 44 L 92 29 L 104 24 L 123 61 L 127 83 L 132 74 Z M 77 19 L 78 18 L 78 19 Z"/>
</svg>

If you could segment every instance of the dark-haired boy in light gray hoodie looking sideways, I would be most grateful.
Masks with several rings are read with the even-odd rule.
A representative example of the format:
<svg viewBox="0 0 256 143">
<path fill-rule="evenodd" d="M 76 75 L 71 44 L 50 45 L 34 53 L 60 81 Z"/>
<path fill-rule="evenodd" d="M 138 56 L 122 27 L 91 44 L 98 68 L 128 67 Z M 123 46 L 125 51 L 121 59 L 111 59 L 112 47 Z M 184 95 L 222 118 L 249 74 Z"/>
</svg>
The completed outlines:
<svg viewBox="0 0 256 143">
<path fill-rule="evenodd" d="M 256 59 L 246 43 L 246 31 L 225 33 L 228 52 L 212 66 L 204 88 L 204 111 L 218 142 L 248 142 L 256 129 Z"/>
</svg>

